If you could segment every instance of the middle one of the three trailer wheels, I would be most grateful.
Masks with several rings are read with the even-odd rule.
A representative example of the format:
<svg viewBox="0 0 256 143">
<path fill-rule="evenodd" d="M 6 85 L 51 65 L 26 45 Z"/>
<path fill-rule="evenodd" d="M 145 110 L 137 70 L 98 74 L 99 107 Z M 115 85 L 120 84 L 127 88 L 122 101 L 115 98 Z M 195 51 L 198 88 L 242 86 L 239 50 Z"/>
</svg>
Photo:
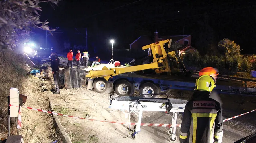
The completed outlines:
<svg viewBox="0 0 256 143">
<path fill-rule="evenodd" d="M 135 93 L 135 84 L 120 80 L 115 84 L 115 93 L 118 96 L 132 96 Z"/>
</svg>

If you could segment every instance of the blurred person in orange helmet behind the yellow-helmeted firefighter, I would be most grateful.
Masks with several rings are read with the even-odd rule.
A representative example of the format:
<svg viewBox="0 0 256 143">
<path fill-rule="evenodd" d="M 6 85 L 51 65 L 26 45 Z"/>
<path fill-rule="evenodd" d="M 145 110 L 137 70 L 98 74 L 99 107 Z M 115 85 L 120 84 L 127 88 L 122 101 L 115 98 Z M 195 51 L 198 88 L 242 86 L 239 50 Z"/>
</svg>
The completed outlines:
<svg viewBox="0 0 256 143">
<path fill-rule="evenodd" d="M 219 74 L 218 74 L 218 69 L 212 68 L 212 67 L 206 67 L 206 68 L 203 68 L 202 70 L 199 71 L 199 76 L 201 76 L 201 75 L 210 75 L 210 76 L 212 76 L 215 80 L 215 83 L 216 83 L 216 79 L 217 79 L 217 76 Z M 218 101 L 220 103 L 220 106 L 222 106 L 222 101 L 221 101 L 220 96 L 218 95 L 218 93 L 216 91 L 211 92 L 210 98 Z"/>
</svg>

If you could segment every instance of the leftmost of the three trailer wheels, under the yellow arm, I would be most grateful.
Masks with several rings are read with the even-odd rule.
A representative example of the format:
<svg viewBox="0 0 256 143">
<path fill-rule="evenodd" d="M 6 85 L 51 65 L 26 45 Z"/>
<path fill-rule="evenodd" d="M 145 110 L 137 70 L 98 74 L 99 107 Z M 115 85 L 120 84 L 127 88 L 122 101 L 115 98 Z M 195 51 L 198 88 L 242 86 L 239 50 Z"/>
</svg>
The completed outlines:
<svg viewBox="0 0 256 143">
<path fill-rule="evenodd" d="M 104 78 L 96 78 L 93 81 L 93 89 L 97 93 L 106 94 L 113 89 L 113 84 L 106 81 Z"/>
</svg>

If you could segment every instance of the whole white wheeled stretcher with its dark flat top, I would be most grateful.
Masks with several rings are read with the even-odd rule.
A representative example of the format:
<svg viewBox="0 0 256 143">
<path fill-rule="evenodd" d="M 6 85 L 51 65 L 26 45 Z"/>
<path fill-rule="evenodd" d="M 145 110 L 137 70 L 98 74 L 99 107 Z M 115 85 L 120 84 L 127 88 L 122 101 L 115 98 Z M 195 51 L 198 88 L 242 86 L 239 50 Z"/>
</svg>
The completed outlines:
<svg viewBox="0 0 256 143">
<path fill-rule="evenodd" d="M 158 111 L 166 112 L 172 117 L 172 125 L 176 125 L 177 122 L 177 113 L 183 115 L 185 105 L 188 101 L 181 99 L 172 99 L 172 98 L 141 98 L 141 97 L 118 97 L 111 99 L 110 96 L 110 106 L 111 109 L 121 110 L 125 114 L 125 118 L 128 118 L 130 122 L 130 113 L 134 113 L 139 119 L 136 125 L 134 126 L 134 132 L 130 133 L 131 124 L 129 124 L 129 135 L 132 139 L 135 139 L 136 134 L 140 131 L 141 128 L 141 119 L 143 111 Z M 172 114 L 170 114 L 172 112 Z M 162 125 L 166 127 L 166 125 Z M 176 133 L 176 126 L 172 126 L 168 130 L 169 141 L 176 142 L 178 140 Z"/>
</svg>

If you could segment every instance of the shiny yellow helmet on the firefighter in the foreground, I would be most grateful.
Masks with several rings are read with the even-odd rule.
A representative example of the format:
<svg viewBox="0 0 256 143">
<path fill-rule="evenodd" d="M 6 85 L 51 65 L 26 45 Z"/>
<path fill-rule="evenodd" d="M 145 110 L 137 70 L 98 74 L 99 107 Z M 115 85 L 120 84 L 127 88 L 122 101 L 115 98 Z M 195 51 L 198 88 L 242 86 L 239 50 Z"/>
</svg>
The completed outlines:
<svg viewBox="0 0 256 143">
<path fill-rule="evenodd" d="M 194 90 L 211 92 L 214 87 L 216 87 L 216 85 L 213 77 L 211 77 L 210 75 L 201 75 L 196 80 Z"/>
</svg>

